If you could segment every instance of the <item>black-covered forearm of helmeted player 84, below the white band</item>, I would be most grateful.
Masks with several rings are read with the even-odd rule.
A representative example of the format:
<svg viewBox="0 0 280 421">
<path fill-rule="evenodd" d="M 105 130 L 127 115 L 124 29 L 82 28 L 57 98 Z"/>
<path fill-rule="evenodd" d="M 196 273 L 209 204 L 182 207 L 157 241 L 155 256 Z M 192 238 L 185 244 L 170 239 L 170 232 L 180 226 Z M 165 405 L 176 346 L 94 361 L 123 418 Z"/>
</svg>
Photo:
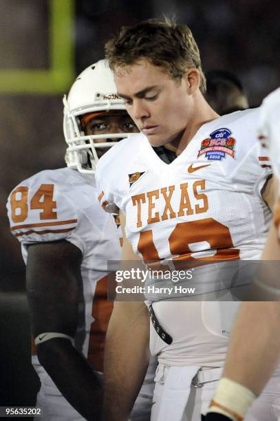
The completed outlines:
<svg viewBox="0 0 280 421">
<path fill-rule="evenodd" d="M 52 339 L 37 347 L 41 365 L 56 387 L 86 420 L 99 420 L 101 385 L 87 363 L 67 339 Z"/>
</svg>

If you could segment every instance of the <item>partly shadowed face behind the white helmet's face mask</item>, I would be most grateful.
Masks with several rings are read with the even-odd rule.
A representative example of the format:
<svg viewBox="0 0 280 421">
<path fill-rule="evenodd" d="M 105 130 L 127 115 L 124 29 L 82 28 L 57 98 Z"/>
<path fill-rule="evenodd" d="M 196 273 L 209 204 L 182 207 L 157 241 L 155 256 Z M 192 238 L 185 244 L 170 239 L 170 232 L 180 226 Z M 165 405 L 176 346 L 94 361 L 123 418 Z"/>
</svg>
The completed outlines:
<svg viewBox="0 0 280 421">
<path fill-rule="evenodd" d="M 138 133 L 138 129 L 133 120 L 127 114 L 127 111 L 109 111 L 105 116 L 91 118 L 85 126 L 86 135 L 108 135 L 111 133 Z M 95 139 L 94 143 L 118 142 L 122 138 L 104 138 Z M 97 148 L 98 158 L 104 155 L 109 148 Z"/>
</svg>

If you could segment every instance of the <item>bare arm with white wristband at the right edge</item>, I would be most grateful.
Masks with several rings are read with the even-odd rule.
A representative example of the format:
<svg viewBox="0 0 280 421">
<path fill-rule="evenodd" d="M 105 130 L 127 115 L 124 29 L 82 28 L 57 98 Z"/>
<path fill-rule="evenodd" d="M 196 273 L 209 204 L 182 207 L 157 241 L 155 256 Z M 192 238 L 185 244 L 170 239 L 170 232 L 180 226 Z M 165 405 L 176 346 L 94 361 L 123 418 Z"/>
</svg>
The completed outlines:
<svg viewBox="0 0 280 421">
<path fill-rule="evenodd" d="M 280 245 L 274 224 L 270 227 L 262 259 L 280 260 Z M 266 285 L 262 287 L 258 284 L 255 288 L 259 289 L 259 294 L 266 296 Z M 280 337 L 277 334 L 280 301 L 277 297 L 274 299 L 276 301 L 247 301 L 241 304 L 228 346 L 223 378 L 213 398 L 213 413 L 208 413 L 206 421 L 222 421 L 217 411 L 227 413 L 228 417 L 233 411 L 245 415 L 274 373 L 280 361 Z M 221 405 L 229 411 L 223 410 Z M 224 419 L 237 420 L 234 417 Z"/>
</svg>

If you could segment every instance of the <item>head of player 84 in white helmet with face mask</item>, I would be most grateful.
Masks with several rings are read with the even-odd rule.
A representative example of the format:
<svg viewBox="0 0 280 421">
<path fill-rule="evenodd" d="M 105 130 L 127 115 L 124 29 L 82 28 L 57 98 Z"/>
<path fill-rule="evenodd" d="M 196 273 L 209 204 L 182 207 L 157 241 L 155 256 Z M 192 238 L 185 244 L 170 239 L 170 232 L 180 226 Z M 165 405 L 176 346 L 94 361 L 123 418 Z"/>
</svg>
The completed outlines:
<svg viewBox="0 0 280 421">
<path fill-rule="evenodd" d="M 65 160 L 80 173 L 94 173 L 104 151 L 135 132 L 136 125 L 116 94 L 111 71 L 104 60 L 87 67 L 63 98 Z"/>
</svg>

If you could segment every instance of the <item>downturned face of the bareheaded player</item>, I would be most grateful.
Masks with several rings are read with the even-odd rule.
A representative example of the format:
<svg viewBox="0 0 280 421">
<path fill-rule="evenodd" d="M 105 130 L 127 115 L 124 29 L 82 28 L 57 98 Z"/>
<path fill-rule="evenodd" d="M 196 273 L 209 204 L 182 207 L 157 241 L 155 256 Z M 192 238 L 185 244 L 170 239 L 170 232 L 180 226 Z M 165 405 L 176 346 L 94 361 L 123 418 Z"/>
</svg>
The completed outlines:
<svg viewBox="0 0 280 421">
<path fill-rule="evenodd" d="M 192 109 L 184 78 L 174 80 L 162 67 L 143 59 L 116 69 L 115 82 L 129 116 L 152 146 L 161 146 L 182 136 Z"/>
</svg>

